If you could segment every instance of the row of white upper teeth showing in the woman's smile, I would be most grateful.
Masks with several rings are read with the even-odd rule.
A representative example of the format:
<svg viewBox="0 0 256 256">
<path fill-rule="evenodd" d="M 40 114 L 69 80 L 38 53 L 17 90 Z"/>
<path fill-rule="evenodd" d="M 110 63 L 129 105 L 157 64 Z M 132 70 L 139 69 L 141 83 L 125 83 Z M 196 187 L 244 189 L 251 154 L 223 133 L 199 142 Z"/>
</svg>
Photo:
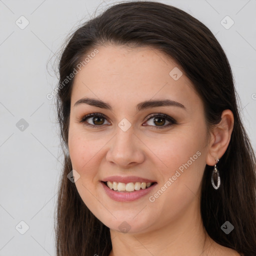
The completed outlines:
<svg viewBox="0 0 256 256">
<path fill-rule="evenodd" d="M 145 189 L 146 187 L 149 187 L 152 182 L 129 182 L 125 184 L 122 182 L 107 181 L 106 184 L 110 189 L 113 190 L 132 192 L 134 190 Z"/>
</svg>

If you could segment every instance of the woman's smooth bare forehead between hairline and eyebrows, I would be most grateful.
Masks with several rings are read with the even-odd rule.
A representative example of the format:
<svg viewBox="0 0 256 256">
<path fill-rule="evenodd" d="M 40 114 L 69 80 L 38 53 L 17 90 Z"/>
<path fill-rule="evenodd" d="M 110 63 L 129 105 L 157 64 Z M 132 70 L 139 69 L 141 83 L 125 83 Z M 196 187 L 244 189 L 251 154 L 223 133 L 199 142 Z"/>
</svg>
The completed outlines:
<svg viewBox="0 0 256 256">
<path fill-rule="evenodd" d="M 181 68 L 159 50 L 114 45 L 100 46 L 97 49 L 98 53 L 75 75 L 71 93 L 72 105 L 84 96 L 127 106 L 163 97 L 187 106 L 199 100 L 192 83 Z M 173 76 L 173 73 L 177 75 Z"/>
</svg>

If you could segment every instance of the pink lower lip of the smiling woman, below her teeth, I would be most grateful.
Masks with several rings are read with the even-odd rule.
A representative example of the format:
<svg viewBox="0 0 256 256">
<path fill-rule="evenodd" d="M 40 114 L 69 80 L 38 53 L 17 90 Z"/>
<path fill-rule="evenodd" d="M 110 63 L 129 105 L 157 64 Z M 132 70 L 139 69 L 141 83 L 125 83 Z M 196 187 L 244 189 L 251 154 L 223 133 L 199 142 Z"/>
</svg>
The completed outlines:
<svg viewBox="0 0 256 256">
<path fill-rule="evenodd" d="M 153 185 L 145 188 L 145 189 L 139 189 L 139 190 L 134 190 L 132 192 L 117 192 L 116 190 L 112 190 L 110 189 L 107 185 L 105 185 L 105 183 L 103 181 L 100 182 L 101 185 L 103 186 L 106 194 L 113 200 L 115 201 L 134 201 L 144 195 L 146 195 L 147 193 L 149 193 L 153 188 L 154 186 L 157 184 L 157 183 L 154 183 Z"/>
</svg>

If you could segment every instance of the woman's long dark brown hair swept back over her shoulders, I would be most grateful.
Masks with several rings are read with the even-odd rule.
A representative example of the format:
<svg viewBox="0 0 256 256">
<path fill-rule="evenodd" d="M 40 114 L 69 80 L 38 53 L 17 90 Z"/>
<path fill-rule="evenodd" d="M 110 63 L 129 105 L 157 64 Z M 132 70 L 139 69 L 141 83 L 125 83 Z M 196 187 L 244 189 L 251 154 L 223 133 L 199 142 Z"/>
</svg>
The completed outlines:
<svg viewBox="0 0 256 256">
<path fill-rule="evenodd" d="M 76 29 L 61 53 L 56 106 L 64 168 L 55 212 L 57 256 L 108 256 L 112 248 L 109 228 L 90 212 L 67 178 L 72 164 L 65 153 L 73 78 L 65 84 L 63 81 L 91 49 L 105 43 L 149 46 L 174 59 L 200 95 L 208 127 L 220 121 L 224 109 L 233 112 L 231 139 L 218 163 L 221 185 L 218 190 L 212 187 L 212 166 L 206 165 L 200 210 L 213 240 L 245 256 L 255 256 L 256 160 L 240 119 L 228 60 L 204 24 L 176 7 L 153 1 L 122 2 L 107 8 Z M 234 226 L 229 234 L 221 230 L 225 221 Z"/>
</svg>

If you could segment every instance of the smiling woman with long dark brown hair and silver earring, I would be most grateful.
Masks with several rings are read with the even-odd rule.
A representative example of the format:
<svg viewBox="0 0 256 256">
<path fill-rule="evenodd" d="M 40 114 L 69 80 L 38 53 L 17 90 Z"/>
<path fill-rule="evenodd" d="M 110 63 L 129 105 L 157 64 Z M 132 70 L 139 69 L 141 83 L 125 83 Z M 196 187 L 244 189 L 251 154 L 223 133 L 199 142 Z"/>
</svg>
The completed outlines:
<svg viewBox="0 0 256 256">
<path fill-rule="evenodd" d="M 59 73 L 58 256 L 256 255 L 255 155 L 205 25 L 116 4 L 71 35 Z"/>
</svg>

